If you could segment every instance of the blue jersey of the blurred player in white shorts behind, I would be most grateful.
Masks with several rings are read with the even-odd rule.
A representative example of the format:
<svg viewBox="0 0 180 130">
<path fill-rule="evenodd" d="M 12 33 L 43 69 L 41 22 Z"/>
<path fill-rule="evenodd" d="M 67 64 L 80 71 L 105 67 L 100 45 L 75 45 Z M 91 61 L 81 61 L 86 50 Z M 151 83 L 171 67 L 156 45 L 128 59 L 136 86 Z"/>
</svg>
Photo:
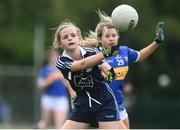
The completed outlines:
<svg viewBox="0 0 180 130">
<path fill-rule="evenodd" d="M 44 80 L 51 73 L 58 71 L 56 66 L 46 65 L 41 68 L 38 80 Z M 55 80 L 43 90 L 43 94 L 51 96 L 68 96 L 66 86 L 62 80 Z"/>
</svg>

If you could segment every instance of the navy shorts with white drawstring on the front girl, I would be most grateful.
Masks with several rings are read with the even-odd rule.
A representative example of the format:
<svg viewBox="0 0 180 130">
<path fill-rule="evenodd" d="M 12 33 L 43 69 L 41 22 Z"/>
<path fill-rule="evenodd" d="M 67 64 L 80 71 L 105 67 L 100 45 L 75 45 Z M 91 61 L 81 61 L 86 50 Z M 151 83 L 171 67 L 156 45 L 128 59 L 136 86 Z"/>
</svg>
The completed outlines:
<svg viewBox="0 0 180 130">
<path fill-rule="evenodd" d="M 119 120 L 118 105 L 112 90 L 109 86 L 101 88 L 77 95 L 69 120 L 84 123 Z"/>
</svg>

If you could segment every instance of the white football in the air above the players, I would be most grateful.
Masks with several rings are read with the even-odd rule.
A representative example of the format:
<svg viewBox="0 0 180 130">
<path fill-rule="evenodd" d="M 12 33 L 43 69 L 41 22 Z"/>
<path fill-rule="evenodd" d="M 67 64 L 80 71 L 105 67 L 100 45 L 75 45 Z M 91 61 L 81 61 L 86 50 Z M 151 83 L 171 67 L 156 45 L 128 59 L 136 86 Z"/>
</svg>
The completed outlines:
<svg viewBox="0 0 180 130">
<path fill-rule="evenodd" d="M 120 32 L 127 32 L 137 26 L 138 13 L 132 6 L 122 4 L 112 11 L 111 19 Z"/>
</svg>

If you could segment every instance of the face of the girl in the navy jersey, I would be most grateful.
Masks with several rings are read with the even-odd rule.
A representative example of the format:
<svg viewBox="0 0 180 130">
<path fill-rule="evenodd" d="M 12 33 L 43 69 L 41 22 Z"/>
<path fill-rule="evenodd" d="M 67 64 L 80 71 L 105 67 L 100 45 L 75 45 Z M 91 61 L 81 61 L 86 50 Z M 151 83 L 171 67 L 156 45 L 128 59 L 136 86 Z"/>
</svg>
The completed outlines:
<svg viewBox="0 0 180 130">
<path fill-rule="evenodd" d="M 61 47 L 65 50 L 72 51 L 80 44 L 80 37 L 73 26 L 66 27 L 59 33 Z"/>
</svg>

